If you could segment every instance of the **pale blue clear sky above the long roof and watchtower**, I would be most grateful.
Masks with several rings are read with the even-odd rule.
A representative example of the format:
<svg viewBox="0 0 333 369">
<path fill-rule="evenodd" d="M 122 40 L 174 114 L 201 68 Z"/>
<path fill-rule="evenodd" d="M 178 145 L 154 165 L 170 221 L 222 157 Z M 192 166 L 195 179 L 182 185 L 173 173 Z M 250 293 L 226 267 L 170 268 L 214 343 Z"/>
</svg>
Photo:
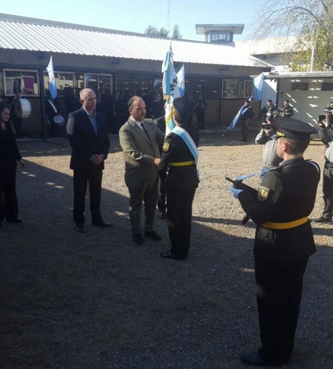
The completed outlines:
<svg viewBox="0 0 333 369">
<path fill-rule="evenodd" d="M 170 2 L 170 11 L 168 4 Z M 183 39 L 204 41 L 196 24 L 244 24 L 242 41 L 251 32 L 251 0 L 15 0 L 4 2 L 1 13 L 58 22 L 144 33 L 148 25 L 171 31 L 179 25 Z M 50 6 L 50 4 L 52 4 Z"/>
</svg>

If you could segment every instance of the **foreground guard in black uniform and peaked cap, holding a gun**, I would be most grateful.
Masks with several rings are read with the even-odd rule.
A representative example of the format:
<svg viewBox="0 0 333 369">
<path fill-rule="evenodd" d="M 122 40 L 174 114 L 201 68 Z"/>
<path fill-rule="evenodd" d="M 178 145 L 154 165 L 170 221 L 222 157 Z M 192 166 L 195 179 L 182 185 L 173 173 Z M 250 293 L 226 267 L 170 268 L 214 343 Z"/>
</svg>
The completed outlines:
<svg viewBox="0 0 333 369">
<path fill-rule="evenodd" d="M 245 213 L 257 224 L 254 255 L 262 347 L 241 360 L 256 366 L 283 365 L 291 359 L 302 295 L 302 279 L 315 253 L 311 213 L 320 178 L 319 166 L 303 152 L 316 129 L 278 118 L 279 167 L 269 170 L 257 196 L 231 188 Z"/>
</svg>

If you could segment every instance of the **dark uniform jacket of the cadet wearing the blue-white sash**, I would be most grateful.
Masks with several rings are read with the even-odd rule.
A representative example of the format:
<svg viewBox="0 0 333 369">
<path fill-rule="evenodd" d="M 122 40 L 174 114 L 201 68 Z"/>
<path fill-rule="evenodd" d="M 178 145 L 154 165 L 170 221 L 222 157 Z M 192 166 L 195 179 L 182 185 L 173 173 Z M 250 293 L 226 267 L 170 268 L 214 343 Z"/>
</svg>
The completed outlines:
<svg viewBox="0 0 333 369">
<path fill-rule="evenodd" d="M 180 127 L 190 134 L 192 140 L 198 147 L 198 130 L 188 125 L 181 125 Z M 199 179 L 197 176 L 197 166 L 195 163 L 186 166 L 169 167 L 170 162 L 184 162 L 191 160 L 194 160 L 194 157 L 180 136 L 176 135 L 175 133 L 171 133 L 165 138 L 161 161 L 158 164 L 158 174 L 161 180 L 166 179 L 166 186 L 168 189 L 175 188 L 181 191 L 192 191 L 198 187 Z M 168 169 L 169 173 L 167 176 L 166 172 Z"/>
</svg>

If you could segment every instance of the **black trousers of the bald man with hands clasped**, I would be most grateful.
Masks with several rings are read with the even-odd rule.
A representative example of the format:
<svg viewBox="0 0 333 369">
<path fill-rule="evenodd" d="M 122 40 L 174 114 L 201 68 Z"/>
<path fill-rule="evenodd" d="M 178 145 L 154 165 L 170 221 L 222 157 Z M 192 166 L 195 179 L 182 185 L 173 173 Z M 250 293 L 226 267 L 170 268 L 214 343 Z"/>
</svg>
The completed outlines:
<svg viewBox="0 0 333 369">
<path fill-rule="evenodd" d="M 90 193 L 90 211 L 92 221 L 99 222 L 102 220 L 101 205 L 101 188 L 102 188 L 103 171 L 100 166 L 90 163 L 84 168 L 73 170 L 74 184 L 74 205 L 73 219 L 76 224 L 85 223 L 85 199 L 87 192 L 87 183 L 89 183 Z"/>
</svg>

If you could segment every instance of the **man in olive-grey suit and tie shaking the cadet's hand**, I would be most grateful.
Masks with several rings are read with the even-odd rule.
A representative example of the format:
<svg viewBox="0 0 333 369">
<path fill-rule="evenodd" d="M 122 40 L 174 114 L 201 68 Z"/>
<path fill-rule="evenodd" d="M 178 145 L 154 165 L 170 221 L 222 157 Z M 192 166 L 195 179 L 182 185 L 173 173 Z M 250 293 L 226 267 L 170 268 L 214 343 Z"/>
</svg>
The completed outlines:
<svg viewBox="0 0 333 369">
<path fill-rule="evenodd" d="M 152 119 L 144 119 L 146 105 L 138 96 L 128 101 L 130 117 L 119 130 L 119 141 L 125 160 L 125 183 L 128 187 L 129 218 L 132 227 L 132 239 L 142 244 L 141 207 L 144 202 L 144 235 L 153 240 L 161 237 L 154 231 L 154 215 L 157 202 L 159 163 L 158 145 L 163 142 L 164 134 Z"/>
</svg>

